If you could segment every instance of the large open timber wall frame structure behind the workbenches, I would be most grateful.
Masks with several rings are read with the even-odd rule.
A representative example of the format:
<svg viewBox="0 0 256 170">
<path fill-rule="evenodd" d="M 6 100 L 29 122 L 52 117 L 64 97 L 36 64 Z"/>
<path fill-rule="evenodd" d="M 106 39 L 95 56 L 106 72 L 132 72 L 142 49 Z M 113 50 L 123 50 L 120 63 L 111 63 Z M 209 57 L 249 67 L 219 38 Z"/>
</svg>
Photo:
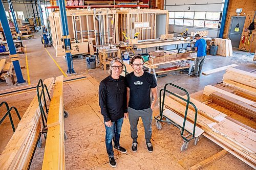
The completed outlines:
<svg viewBox="0 0 256 170">
<path fill-rule="evenodd" d="M 90 54 L 93 45 L 113 44 L 125 41 L 122 32 L 133 38 L 140 32 L 138 40 L 155 39 L 157 37 L 157 16 L 162 15 L 165 29 L 161 34 L 168 34 L 168 11 L 159 9 L 93 9 L 68 10 L 67 20 L 71 43 L 88 42 Z M 130 19 L 127 19 L 130 18 Z M 59 12 L 49 16 L 53 46 L 60 49 L 62 30 Z M 165 22 L 166 21 L 166 22 Z M 162 27 L 161 22 L 161 27 Z M 90 46 L 91 45 L 91 46 Z"/>
</svg>

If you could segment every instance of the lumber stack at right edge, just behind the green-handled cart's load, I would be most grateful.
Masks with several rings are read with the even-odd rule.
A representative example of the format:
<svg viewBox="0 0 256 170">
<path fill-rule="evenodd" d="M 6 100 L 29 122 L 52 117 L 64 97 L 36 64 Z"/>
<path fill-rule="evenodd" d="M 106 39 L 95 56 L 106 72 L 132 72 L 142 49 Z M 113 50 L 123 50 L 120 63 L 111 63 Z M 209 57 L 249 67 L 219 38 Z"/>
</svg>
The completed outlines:
<svg viewBox="0 0 256 170">
<path fill-rule="evenodd" d="M 256 118 L 256 103 L 239 95 L 208 85 L 204 94 L 211 96 L 212 102 L 250 119 Z"/>
</svg>

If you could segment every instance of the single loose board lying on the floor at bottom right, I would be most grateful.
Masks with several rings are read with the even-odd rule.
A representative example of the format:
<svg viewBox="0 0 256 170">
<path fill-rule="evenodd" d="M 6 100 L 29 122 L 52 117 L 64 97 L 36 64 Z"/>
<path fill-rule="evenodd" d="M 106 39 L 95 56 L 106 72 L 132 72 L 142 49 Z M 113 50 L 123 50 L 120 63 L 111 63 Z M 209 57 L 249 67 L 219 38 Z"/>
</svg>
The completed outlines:
<svg viewBox="0 0 256 170">
<path fill-rule="evenodd" d="M 210 164 L 211 162 L 216 161 L 216 160 L 222 158 L 223 156 L 225 156 L 227 154 L 228 154 L 228 152 L 226 150 L 222 150 L 222 151 L 218 152 L 217 154 L 212 155 L 211 157 L 209 157 L 209 158 L 207 158 L 207 159 L 205 159 L 205 160 L 203 160 L 203 161 L 201 161 L 201 162 L 191 166 L 189 169 L 190 170 L 200 169 L 200 168 Z"/>
</svg>

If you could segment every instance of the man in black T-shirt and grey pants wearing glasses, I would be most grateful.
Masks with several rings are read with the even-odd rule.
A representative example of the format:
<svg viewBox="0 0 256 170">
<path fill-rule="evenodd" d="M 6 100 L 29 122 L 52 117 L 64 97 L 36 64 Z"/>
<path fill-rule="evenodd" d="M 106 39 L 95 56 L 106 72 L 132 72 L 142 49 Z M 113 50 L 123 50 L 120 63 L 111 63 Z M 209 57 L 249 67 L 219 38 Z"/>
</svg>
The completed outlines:
<svg viewBox="0 0 256 170">
<path fill-rule="evenodd" d="M 131 60 L 133 72 L 126 75 L 127 84 L 127 106 L 129 113 L 129 122 L 131 125 L 131 137 L 133 139 L 132 151 L 138 150 L 138 121 L 141 117 L 144 130 L 145 140 L 148 152 L 153 152 L 151 143 L 152 136 L 152 115 L 157 101 L 157 82 L 154 75 L 143 71 L 143 58 L 134 56 Z M 152 99 L 151 94 L 152 92 Z"/>
</svg>

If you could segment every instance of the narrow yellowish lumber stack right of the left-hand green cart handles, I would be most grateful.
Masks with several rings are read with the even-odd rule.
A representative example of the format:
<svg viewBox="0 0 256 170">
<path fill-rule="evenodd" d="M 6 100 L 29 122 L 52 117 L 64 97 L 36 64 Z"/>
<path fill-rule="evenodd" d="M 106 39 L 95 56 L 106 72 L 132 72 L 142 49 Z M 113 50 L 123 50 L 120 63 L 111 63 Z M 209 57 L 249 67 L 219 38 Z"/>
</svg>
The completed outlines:
<svg viewBox="0 0 256 170">
<path fill-rule="evenodd" d="M 42 169 L 65 169 L 63 75 L 55 80 L 48 120 L 47 139 Z"/>
</svg>

